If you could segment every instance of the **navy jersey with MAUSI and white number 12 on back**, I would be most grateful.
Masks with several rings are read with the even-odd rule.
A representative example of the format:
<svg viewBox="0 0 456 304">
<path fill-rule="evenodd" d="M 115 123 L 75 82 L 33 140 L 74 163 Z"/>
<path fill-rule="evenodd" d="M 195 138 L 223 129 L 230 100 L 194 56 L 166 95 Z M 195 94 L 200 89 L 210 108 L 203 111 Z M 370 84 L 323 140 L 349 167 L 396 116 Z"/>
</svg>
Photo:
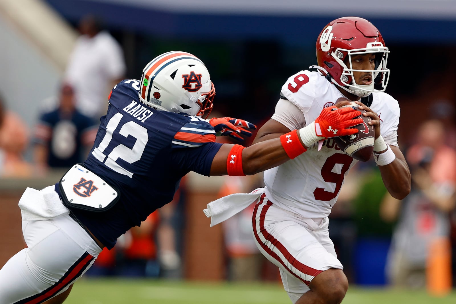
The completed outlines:
<svg viewBox="0 0 456 304">
<path fill-rule="evenodd" d="M 195 116 L 153 110 L 138 98 L 139 81 L 123 80 L 109 97 L 92 151 L 84 165 L 119 189 L 109 210 L 71 212 L 111 249 L 117 238 L 171 202 L 190 171 L 208 176 L 221 144 Z M 58 187 L 56 187 L 58 188 Z"/>
</svg>

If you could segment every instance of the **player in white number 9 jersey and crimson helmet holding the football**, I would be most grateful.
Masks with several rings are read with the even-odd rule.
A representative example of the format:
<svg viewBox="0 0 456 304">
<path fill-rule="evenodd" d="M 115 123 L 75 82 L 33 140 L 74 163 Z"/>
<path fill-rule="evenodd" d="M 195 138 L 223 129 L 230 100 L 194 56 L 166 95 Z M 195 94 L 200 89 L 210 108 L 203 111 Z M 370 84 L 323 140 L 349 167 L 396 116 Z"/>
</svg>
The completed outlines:
<svg viewBox="0 0 456 304">
<path fill-rule="evenodd" d="M 300 71 L 287 80 L 274 115 L 255 138 L 258 143 L 302 128 L 307 147 L 305 153 L 264 172 L 265 193 L 253 215 L 257 246 L 280 267 L 295 304 L 340 303 L 348 288 L 329 238 L 328 215 L 357 161 L 331 138 L 322 142 L 315 134 L 306 136 L 306 126 L 312 125 L 318 135 L 316 118 L 323 109 L 354 101 L 366 110 L 375 129 L 373 157 L 385 187 L 397 199 L 409 194 L 410 172 L 397 141 L 399 105 L 383 93 L 388 53 L 369 21 L 343 17 L 330 22 L 316 41 L 318 66 L 310 68 L 317 71 Z"/>
</svg>

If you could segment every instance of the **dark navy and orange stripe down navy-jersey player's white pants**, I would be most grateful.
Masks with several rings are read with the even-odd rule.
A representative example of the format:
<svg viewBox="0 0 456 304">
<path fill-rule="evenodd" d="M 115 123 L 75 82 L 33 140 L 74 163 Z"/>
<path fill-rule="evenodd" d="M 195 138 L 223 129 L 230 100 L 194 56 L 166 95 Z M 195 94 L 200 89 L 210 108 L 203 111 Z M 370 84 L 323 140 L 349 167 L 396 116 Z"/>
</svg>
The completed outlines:
<svg viewBox="0 0 456 304">
<path fill-rule="evenodd" d="M 22 299 L 14 304 L 40 304 L 47 301 L 48 299 L 56 295 L 59 291 L 61 291 L 63 288 L 73 283 L 74 279 L 81 276 L 81 274 L 93 261 L 93 259 L 94 257 L 85 252 L 83 256 L 80 257 L 78 261 L 74 263 L 72 267 L 70 267 L 70 269 L 68 269 L 67 273 L 65 273 L 57 283 L 42 291 L 40 294 L 33 295 L 26 299 Z"/>
</svg>

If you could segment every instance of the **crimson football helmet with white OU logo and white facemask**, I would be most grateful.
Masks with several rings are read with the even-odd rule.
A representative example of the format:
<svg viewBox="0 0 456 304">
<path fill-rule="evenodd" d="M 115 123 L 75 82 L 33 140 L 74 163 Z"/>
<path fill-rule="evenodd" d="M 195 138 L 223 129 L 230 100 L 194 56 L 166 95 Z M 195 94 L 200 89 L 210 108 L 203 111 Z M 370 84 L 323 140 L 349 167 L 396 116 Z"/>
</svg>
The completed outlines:
<svg viewBox="0 0 456 304">
<path fill-rule="evenodd" d="M 352 56 L 369 53 L 375 53 L 373 70 L 352 68 Z M 342 17 L 331 21 L 321 31 L 316 40 L 318 66 L 310 68 L 319 69 L 328 80 L 347 92 L 366 97 L 386 89 L 388 53 L 382 35 L 372 23 L 359 17 Z M 357 84 L 353 72 L 372 73 L 372 84 Z"/>
</svg>

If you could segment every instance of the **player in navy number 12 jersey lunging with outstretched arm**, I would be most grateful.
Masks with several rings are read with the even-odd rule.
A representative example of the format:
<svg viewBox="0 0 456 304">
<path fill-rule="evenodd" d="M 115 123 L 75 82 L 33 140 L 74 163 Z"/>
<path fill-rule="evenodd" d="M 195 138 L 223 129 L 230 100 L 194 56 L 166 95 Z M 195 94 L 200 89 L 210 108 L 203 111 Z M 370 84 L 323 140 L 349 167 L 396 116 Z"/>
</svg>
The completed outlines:
<svg viewBox="0 0 456 304">
<path fill-rule="evenodd" d="M 206 176 L 255 174 L 306 151 L 294 130 L 244 148 L 215 142 L 216 135 L 249 135 L 255 126 L 230 117 L 205 120 L 215 89 L 207 68 L 187 52 L 153 59 L 140 80 L 127 79 L 109 95 L 109 108 L 91 152 L 55 185 L 27 188 L 19 206 L 27 248 L 0 270 L 0 303 L 62 303 L 74 281 L 103 247 L 140 225 L 173 199 L 190 171 Z M 351 107 L 324 110 L 319 120 L 338 135 L 361 119 Z M 329 124 L 329 125 L 328 125 Z M 331 129 L 331 127 L 329 127 Z M 305 134 L 305 135 L 303 135 Z"/>
</svg>

